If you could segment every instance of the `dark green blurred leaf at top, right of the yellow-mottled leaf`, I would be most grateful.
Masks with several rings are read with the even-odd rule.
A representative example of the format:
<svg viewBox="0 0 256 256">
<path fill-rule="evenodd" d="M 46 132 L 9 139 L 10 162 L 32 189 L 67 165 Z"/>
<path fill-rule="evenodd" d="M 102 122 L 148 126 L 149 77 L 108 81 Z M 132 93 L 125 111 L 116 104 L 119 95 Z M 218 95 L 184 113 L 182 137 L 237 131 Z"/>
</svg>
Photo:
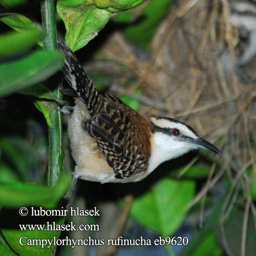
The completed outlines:
<svg viewBox="0 0 256 256">
<path fill-rule="evenodd" d="M 124 35 L 134 44 L 147 48 L 161 20 L 174 0 L 152 0 L 141 12 L 141 20 L 124 30 Z M 127 14 L 120 14 L 127 15 Z M 119 17 L 122 19 L 122 17 Z"/>
</svg>

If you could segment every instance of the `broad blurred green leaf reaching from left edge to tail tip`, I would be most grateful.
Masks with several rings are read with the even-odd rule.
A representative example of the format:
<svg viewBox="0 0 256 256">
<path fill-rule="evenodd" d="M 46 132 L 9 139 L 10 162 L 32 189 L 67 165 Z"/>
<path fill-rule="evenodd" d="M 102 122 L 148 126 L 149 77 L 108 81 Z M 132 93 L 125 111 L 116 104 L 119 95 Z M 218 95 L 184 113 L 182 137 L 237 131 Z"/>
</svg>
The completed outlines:
<svg viewBox="0 0 256 256">
<path fill-rule="evenodd" d="M 61 69 L 64 56 L 55 51 L 34 51 L 16 61 L 0 65 L 0 96 L 22 90 L 47 79 Z"/>
</svg>

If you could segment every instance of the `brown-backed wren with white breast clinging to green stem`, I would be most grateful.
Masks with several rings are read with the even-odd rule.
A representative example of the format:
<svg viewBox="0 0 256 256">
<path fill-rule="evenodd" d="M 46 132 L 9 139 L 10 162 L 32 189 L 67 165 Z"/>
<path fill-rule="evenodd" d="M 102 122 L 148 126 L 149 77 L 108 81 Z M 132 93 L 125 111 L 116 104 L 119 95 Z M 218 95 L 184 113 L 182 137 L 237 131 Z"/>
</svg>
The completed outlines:
<svg viewBox="0 0 256 256">
<path fill-rule="evenodd" d="M 69 84 L 61 92 L 75 98 L 68 122 L 76 163 L 73 183 L 78 178 L 101 183 L 137 182 L 161 163 L 198 147 L 221 155 L 189 125 L 140 114 L 116 96 L 97 91 L 66 42 L 57 41 L 57 48 L 65 55 L 62 70 Z"/>
</svg>

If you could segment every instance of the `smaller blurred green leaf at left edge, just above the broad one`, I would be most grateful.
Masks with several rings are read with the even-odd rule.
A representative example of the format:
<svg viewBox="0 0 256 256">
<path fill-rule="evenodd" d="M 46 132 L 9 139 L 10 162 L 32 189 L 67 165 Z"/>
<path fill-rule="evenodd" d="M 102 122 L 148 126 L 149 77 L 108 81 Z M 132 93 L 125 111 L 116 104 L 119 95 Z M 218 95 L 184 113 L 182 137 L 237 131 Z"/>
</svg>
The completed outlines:
<svg viewBox="0 0 256 256">
<path fill-rule="evenodd" d="M 23 32 L 9 32 L 0 35 L 0 56 L 15 55 L 31 48 L 40 39 L 38 29 L 24 30 Z"/>
</svg>

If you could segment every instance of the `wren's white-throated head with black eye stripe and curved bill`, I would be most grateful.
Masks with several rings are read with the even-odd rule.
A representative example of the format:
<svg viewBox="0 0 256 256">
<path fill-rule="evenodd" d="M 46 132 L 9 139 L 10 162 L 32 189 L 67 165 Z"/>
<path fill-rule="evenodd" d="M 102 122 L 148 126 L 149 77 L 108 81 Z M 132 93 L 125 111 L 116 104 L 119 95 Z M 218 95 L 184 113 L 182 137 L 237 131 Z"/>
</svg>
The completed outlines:
<svg viewBox="0 0 256 256">
<path fill-rule="evenodd" d="M 153 136 L 150 169 L 155 169 L 162 162 L 182 156 L 198 147 L 221 155 L 215 145 L 200 138 L 194 129 L 183 122 L 165 117 L 151 117 L 151 122 Z"/>
</svg>

